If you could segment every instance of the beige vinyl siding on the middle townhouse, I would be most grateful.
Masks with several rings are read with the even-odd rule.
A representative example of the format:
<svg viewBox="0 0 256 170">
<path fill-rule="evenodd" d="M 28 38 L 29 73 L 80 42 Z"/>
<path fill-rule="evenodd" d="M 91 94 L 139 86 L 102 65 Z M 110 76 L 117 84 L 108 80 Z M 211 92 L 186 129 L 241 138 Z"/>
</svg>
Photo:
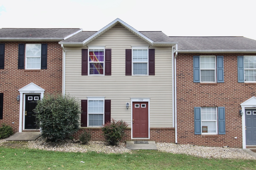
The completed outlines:
<svg viewBox="0 0 256 170">
<path fill-rule="evenodd" d="M 171 47 L 152 47 L 121 26 L 116 26 L 88 45 L 112 49 L 111 76 L 82 76 L 81 49 L 66 49 L 66 93 L 79 100 L 105 97 L 111 100 L 111 117 L 131 124 L 131 97 L 150 98 L 150 127 L 173 127 Z M 125 49 L 131 46 L 155 49 L 154 76 L 126 76 Z M 87 48 L 87 46 L 83 47 Z M 126 102 L 130 107 L 126 109 Z"/>
</svg>

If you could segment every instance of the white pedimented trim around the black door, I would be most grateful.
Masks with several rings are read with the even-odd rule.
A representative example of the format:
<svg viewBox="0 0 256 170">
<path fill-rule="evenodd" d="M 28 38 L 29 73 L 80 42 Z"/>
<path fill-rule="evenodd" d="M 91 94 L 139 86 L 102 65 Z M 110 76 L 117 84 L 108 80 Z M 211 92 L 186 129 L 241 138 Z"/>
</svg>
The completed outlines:
<svg viewBox="0 0 256 170">
<path fill-rule="evenodd" d="M 26 94 L 39 94 L 40 99 L 43 99 L 43 93 L 45 90 L 34 83 L 29 83 L 28 85 L 19 89 L 20 101 L 19 101 L 19 132 L 25 129 L 25 95 Z M 23 118 L 22 118 L 23 117 Z"/>
</svg>

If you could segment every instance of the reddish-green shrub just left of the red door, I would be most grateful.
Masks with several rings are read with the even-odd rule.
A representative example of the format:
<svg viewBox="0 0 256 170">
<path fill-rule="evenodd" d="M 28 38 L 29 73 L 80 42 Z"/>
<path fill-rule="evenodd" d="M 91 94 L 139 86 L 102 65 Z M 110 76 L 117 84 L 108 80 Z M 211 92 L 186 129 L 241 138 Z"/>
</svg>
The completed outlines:
<svg viewBox="0 0 256 170">
<path fill-rule="evenodd" d="M 111 122 L 106 123 L 102 127 L 102 132 L 109 145 L 118 145 L 119 141 L 125 136 L 125 129 L 128 124 L 124 121 L 115 121 L 111 119 Z"/>
</svg>

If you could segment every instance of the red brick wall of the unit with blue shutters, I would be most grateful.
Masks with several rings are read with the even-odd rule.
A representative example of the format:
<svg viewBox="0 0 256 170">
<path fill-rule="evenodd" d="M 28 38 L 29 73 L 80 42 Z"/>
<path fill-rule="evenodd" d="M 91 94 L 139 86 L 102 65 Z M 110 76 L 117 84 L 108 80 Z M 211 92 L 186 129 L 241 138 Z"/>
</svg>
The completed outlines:
<svg viewBox="0 0 256 170">
<path fill-rule="evenodd" d="M 225 83 L 193 83 L 194 55 L 224 56 Z M 179 144 L 242 148 L 240 104 L 256 96 L 256 83 L 237 83 L 237 56 L 240 55 L 245 54 L 178 54 L 176 84 Z M 225 107 L 226 134 L 195 135 L 194 107 Z"/>
</svg>

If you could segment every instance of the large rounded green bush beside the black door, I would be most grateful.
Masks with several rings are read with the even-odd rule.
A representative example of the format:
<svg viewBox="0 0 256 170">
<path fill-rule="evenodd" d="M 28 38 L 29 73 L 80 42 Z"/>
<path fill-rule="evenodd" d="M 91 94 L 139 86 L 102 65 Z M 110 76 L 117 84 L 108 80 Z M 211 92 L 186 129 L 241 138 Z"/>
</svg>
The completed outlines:
<svg viewBox="0 0 256 170">
<path fill-rule="evenodd" d="M 78 131 L 81 107 L 69 95 L 47 95 L 38 100 L 34 110 L 42 137 L 57 142 Z"/>
</svg>

